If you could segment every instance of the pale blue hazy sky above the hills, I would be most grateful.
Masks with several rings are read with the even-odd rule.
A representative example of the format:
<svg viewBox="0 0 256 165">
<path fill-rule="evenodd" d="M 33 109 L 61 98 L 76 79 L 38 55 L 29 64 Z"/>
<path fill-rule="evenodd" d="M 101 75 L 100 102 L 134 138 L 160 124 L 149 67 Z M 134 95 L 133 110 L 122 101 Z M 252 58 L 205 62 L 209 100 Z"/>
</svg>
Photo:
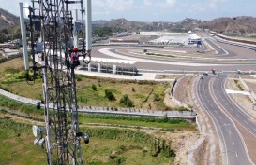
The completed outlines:
<svg viewBox="0 0 256 165">
<path fill-rule="evenodd" d="M 19 2 L 27 4 L 30 0 L 0 0 L 0 7 L 19 15 Z M 256 17 L 256 0 L 92 0 L 92 4 L 93 20 L 209 21 L 218 17 Z"/>
</svg>

